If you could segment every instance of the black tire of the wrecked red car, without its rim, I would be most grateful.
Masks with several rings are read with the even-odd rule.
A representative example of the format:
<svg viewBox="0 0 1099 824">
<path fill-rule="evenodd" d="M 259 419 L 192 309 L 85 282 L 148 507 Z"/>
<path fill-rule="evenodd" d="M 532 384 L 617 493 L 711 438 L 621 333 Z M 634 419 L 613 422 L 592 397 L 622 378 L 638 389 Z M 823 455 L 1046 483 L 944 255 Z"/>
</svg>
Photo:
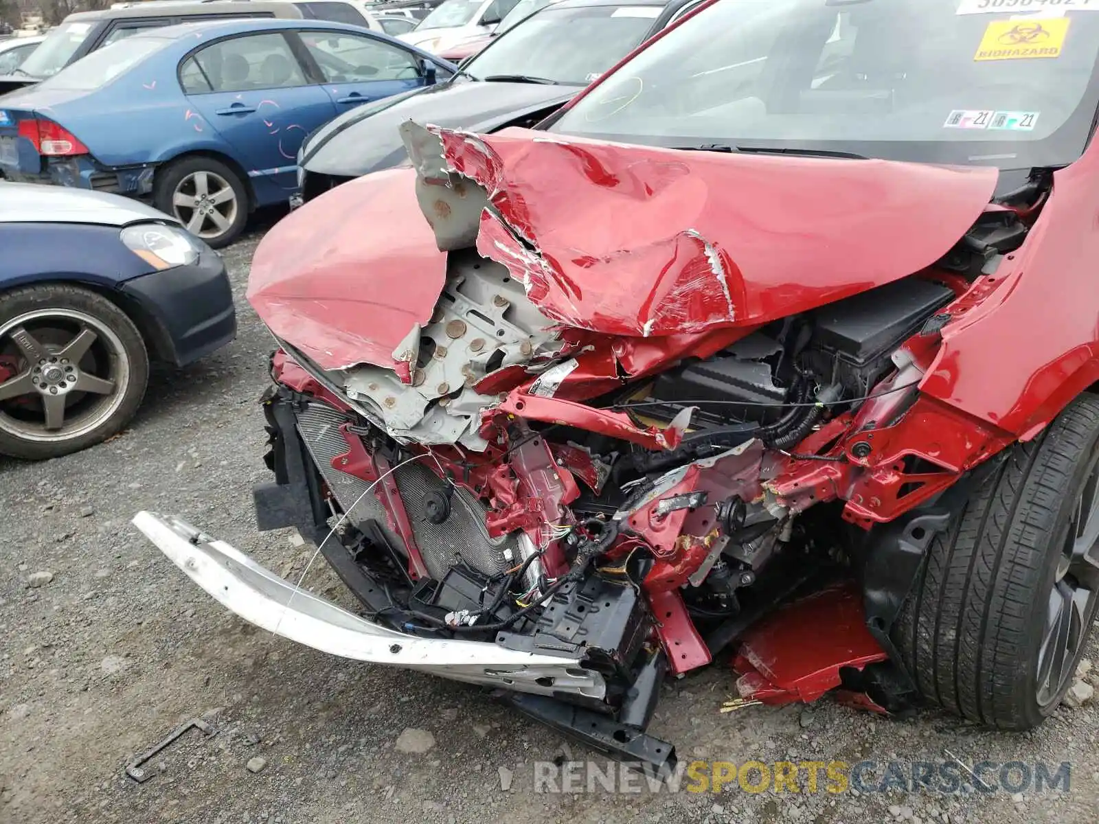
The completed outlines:
<svg viewBox="0 0 1099 824">
<path fill-rule="evenodd" d="M 1013 446 L 975 490 L 953 531 L 932 542 L 892 630 L 926 700 L 1007 731 L 1037 726 L 1061 703 L 1099 598 L 1090 595 L 1081 611 L 1083 638 L 1066 665 L 1067 679 L 1059 688 L 1051 683 L 1041 701 L 1039 658 L 1050 593 L 1064 575 L 1063 547 L 1097 461 L 1099 397 L 1085 394 L 1039 437 Z M 1094 593 L 1099 581 L 1092 572 L 1079 569 Z"/>
</svg>

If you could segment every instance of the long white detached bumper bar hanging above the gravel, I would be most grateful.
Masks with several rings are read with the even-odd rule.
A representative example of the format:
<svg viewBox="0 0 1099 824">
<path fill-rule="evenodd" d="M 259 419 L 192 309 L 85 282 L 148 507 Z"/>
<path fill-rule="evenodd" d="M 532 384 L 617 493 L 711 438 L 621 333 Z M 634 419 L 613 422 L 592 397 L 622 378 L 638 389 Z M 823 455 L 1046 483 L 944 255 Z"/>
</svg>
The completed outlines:
<svg viewBox="0 0 1099 824">
<path fill-rule="evenodd" d="M 323 653 L 518 692 L 597 700 L 606 695 L 602 676 L 584 668 L 577 658 L 406 635 L 297 589 L 182 521 L 138 512 L 133 524 L 223 606 L 248 623 Z"/>
</svg>

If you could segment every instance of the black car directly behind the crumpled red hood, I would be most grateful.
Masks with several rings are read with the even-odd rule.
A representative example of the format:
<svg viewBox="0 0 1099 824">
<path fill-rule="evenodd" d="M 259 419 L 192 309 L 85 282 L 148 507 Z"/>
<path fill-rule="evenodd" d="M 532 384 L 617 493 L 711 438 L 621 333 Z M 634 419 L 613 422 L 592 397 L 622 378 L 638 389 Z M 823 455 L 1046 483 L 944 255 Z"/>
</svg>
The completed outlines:
<svg viewBox="0 0 1099 824">
<path fill-rule="evenodd" d="M 408 120 L 479 133 L 539 123 L 700 2 L 565 0 L 541 9 L 446 82 L 359 107 L 314 132 L 298 159 L 300 202 L 403 163 L 397 130 Z"/>
</svg>

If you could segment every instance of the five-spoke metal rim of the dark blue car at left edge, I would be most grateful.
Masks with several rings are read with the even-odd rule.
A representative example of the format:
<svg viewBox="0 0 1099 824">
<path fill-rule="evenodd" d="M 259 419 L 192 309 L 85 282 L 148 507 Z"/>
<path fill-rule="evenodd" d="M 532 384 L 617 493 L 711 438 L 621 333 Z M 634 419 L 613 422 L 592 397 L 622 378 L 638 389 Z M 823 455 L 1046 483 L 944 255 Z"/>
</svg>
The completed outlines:
<svg viewBox="0 0 1099 824">
<path fill-rule="evenodd" d="M 125 347 L 98 318 L 42 309 L 0 326 L 0 432 L 38 443 L 80 437 L 119 410 L 129 386 Z"/>
</svg>

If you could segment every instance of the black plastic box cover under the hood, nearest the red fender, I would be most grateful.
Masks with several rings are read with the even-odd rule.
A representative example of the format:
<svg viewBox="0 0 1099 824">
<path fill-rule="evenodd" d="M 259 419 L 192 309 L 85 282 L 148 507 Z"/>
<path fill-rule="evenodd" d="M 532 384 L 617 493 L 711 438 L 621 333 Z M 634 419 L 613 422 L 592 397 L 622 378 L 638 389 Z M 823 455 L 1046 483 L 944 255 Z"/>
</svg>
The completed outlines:
<svg viewBox="0 0 1099 824">
<path fill-rule="evenodd" d="M 940 283 L 897 280 L 815 310 L 813 343 L 864 366 L 897 348 L 953 299 L 954 291 Z"/>
</svg>

